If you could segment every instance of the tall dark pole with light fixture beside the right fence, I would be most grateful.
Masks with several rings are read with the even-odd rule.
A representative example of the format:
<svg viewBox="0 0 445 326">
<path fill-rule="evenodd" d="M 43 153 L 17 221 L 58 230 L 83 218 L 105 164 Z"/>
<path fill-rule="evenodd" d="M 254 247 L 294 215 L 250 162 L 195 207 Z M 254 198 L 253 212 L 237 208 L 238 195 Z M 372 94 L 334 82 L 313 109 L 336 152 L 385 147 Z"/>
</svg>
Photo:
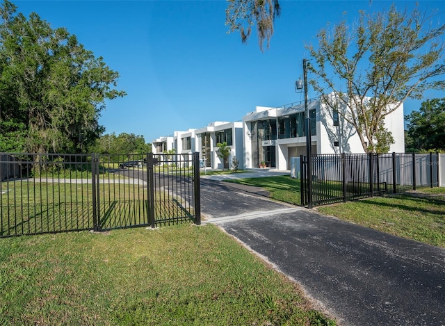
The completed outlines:
<svg viewBox="0 0 445 326">
<path fill-rule="evenodd" d="M 305 88 L 305 115 L 306 115 L 306 159 L 307 159 L 307 206 L 312 208 L 312 135 L 311 135 L 311 117 L 307 99 L 307 59 L 303 59 L 303 80 L 301 78 L 295 82 L 295 89 L 301 90 Z"/>
</svg>

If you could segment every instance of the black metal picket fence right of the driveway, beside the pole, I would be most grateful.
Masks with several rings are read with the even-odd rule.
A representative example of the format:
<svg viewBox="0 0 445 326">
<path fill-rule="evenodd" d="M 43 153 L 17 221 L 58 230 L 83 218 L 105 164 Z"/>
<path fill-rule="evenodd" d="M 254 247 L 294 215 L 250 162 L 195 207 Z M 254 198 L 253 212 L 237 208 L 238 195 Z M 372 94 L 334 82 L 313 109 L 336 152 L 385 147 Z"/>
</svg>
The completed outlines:
<svg viewBox="0 0 445 326">
<path fill-rule="evenodd" d="M 439 154 L 317 154 L 312 175 L 300 156 L 301 202 L 316 206 L 439 186 Z"/>
</svg>

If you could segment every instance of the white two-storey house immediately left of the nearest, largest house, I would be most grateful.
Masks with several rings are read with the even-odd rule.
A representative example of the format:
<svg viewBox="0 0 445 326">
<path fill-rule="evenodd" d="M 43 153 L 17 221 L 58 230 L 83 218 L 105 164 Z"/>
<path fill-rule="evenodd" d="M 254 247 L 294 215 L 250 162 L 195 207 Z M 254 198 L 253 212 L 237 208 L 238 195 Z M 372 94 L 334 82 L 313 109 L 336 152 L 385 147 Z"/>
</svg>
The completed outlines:
<svg viewBox="0 0 445 326">
<path fill-rule="evenodd" d="M 227 161 L 218 156 L 218 142 L 226 142 L 230 148 Z M 242 122 L 211 122 L 207 127 L 195 129 L 195 148 L 200 152 L 202 164 L 207 168 L 230 168 L 233 158 L 239 161 L 238 168 L 244 168 L 243 123 Z"/>
</svg>

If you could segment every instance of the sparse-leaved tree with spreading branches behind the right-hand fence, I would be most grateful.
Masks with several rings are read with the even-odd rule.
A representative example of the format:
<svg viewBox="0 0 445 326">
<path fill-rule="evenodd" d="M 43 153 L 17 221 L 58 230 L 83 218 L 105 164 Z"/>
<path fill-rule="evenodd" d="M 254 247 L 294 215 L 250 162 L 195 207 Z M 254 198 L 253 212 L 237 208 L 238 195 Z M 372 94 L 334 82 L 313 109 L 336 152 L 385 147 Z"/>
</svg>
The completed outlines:
<svg viewBox="0 0 445 326">
<path fill-rule="evenodd" d="M 317 77 L 310 83 L 333 111 L 348 108 L 341 116 L 357 130 L 365 152 L 387 152 L 394 138 L 385 117 L 405 99 L 444 89 L 435 77 L 445 73 L 445 25 L 433 28 L 431 19 L 395 6 L 387 13 L 361 12 L 357 26 L 323 28 L 318 48 L 309 46 L 316 63 L 308 69 Z"/>
</svg>

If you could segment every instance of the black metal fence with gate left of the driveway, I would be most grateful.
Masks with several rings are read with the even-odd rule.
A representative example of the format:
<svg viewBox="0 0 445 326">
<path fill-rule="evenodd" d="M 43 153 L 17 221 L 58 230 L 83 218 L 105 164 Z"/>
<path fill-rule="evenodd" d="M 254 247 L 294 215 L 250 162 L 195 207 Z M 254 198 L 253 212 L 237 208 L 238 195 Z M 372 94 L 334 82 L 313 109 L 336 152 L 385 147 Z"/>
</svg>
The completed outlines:
<svg viewBox="0 0 445 326">
<path fill-rule="evenodd" d="M 1 181 L 0 237 L 200 224 L 196 153 L 174 162 L 166 154 L 151 153 L 0 157 L 1 169 L 15 171 Z"/>
</svg>

